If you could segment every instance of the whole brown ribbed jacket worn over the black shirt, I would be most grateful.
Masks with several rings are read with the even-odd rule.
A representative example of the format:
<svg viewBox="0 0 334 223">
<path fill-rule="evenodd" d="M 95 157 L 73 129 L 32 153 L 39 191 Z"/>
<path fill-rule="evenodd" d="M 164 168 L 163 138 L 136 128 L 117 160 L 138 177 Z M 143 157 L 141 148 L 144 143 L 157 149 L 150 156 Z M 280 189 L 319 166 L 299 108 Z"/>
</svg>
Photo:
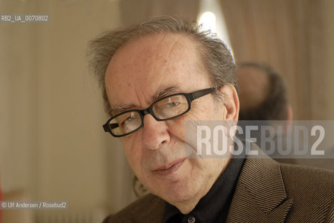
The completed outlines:
<svg viewBox="0 0 334 223">
<path fill-rule="evenodd" d="M 262 157 L 242 167 L 227 222 L 334 222 L 334 171 Z M 149 194 L 103 222 L 162 222 L 165 202 Z"/>
</svg>

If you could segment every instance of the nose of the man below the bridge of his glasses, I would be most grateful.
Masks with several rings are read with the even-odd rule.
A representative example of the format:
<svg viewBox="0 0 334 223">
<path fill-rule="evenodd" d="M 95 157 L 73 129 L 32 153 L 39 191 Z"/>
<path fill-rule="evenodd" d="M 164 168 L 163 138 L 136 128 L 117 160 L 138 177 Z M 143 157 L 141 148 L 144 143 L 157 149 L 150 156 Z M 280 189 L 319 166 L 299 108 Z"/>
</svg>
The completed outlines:
<svg viewBox="0 0 334 223">
<path fill-rule="evenodd" d="M 151 114 L 144 116 L 143 144 L 148 149 L 159 149 L 170 141 L 166 121 L 157 121 Z"/>
</svg>

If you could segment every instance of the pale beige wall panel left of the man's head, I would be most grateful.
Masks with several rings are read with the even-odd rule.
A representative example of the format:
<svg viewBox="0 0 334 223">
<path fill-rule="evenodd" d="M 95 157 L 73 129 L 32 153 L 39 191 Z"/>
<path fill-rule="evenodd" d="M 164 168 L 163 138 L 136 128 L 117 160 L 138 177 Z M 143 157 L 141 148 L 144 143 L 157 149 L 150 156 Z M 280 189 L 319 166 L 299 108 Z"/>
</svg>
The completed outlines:
<svg viewBox="0 0 334 223">
<path fill-rule="evenodd" d="M 133 200 L 133 175 L 103 132 L 108 117 L 85 58 L 89 40 L 119 26 L 117 1 L 3 0 L 0 9 L 50 15 L 48 23 L 0 23 L 1 188 L 66 200 L 66 213 L 118 210 Z"/>
</svg>

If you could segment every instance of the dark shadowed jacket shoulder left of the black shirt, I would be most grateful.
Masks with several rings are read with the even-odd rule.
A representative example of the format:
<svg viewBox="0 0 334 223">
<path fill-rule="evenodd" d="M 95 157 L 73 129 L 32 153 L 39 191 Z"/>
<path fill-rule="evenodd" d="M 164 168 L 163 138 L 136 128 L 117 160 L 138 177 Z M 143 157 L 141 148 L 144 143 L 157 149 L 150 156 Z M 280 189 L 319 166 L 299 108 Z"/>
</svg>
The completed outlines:
<svg viewBox="0 0 334 223">
<path fill-rule="evenodd" d="M 120 210 L 118 213 L 109 215 L 103 223 L 117 222 L 161 222 L 164 215 L 166 201 L 153 194 L 134 201 Z"/>
</svg>

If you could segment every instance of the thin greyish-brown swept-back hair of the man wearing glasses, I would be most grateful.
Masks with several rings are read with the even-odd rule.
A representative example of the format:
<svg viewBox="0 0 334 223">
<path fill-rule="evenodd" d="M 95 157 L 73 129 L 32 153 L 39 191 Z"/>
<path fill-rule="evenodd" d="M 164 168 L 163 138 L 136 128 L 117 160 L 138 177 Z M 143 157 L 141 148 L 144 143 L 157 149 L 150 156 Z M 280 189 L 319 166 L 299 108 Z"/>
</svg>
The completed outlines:
<svg viewBox="0 0 334 223">
<path fill-rule="evenodd" d="M 238 90 L 233 57 L 222 40 L 210 31 L 201 31 L 201 26 L 196 22 L 189 22 L 182 17 L 154 17 L 129 28 L 107 31 L 89 42 L 87 51 L 89 68 L 99 79 L 106 112 L 110 113 L 110 104 L 106 94 L 104 76 L 112 56 L 129 40 L 160 33 L 180 33 L 194 40 L 194 43 L 198 45 L 203 67 L 210 75 L 212 87 L 219 89 L 224 84 L 233 84 Z"/>
</svg>

